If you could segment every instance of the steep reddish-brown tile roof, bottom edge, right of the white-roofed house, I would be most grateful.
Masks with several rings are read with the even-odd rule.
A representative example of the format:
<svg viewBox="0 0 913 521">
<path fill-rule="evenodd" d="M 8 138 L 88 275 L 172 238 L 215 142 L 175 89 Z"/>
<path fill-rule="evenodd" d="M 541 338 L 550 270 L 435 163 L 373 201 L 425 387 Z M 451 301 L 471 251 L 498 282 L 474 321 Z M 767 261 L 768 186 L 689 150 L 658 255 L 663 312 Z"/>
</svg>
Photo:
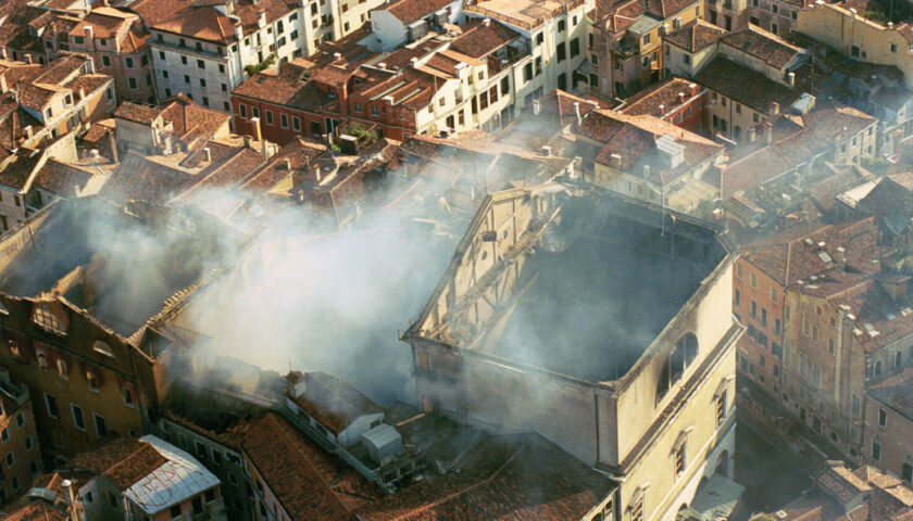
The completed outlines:
<svg viewBox="0 0 913 521">
<path fill-rule="evenodd" d="M 328 457 L 285 418 L 274 412 L 264 415 L 248 430 L 241 446 L 292 520 L 355 520 L 340 498 L 342 491 L 337 494 L 326 479 L 334 474 L 345 475 L 339 469 L 342 463 Z M 359 483 L 357 478 L 349 475 L 348 479 L 343 490 L 371 491 L 370 485 Z M 357 497 L 353 495 L 350 499 Z"/>
</svg>

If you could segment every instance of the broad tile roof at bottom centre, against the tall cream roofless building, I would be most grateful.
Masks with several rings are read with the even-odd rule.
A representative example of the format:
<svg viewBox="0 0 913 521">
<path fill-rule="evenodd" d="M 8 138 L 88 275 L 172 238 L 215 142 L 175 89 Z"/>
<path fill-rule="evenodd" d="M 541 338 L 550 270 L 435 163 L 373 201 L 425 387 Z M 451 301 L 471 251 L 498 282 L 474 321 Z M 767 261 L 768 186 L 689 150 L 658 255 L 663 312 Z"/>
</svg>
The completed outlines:
<svg viewBox="0 0 913 521">
<path fill-rule="evenodd" d="M 581 519 L 614 488 L 538 434 L 484 439 L 458 468 L 403 486 L 358 514 L 366 521 Z"/>
</svg>

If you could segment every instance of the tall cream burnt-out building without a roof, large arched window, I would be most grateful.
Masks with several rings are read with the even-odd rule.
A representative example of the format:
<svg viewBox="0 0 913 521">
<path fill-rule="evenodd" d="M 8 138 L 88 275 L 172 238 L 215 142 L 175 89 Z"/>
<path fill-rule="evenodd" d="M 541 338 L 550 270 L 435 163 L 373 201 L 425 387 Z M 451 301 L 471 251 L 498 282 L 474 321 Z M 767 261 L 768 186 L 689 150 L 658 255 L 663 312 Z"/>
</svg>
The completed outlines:
<svg viewBox="0 0 913 521">
<path fill-rule="evenodd" d="M 417 402 L 611 473 L 614 519 L 673 519 L 731 475 L 734 257 L 722 230 L 597 187 L 493 193 L 402 336 Z"/>
</svg>

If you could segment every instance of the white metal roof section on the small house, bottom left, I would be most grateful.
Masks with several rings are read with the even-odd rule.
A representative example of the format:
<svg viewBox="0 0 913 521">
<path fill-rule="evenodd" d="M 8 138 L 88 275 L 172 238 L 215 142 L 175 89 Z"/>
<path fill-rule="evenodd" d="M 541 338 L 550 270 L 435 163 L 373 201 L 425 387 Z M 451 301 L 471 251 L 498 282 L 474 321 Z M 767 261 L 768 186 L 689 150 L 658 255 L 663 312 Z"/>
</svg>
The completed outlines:
<svg viewBox="0 0 913 521">
<path fill-rule="evenodd" d="M 155 514 L 220 484 L 215 474 L 174 445 L 153 435 L 139 441 L 167 459 L 124 492 L 143 512 Z"/>
</svg>

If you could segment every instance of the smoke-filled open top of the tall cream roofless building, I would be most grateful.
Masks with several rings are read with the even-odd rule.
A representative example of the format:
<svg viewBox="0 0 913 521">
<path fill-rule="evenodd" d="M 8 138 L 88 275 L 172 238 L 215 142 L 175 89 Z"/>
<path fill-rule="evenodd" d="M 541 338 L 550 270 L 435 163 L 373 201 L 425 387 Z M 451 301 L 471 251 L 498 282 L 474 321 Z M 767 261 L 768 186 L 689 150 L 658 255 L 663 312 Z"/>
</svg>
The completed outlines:
<svg viewBox="0 0 913 521">
<path fill-rule="evenodd" d="M 479 215 L 486 212 L 483 205 Z M 478 268 L 475 281 L 458 280 L 470 287 L 456 290 L 460 297 L 439 325 L 420 319 L 422 334 L 578 380 L 616 380 L 727 253 L 710 227 L 590 187 L 563 201 L 555 215 L 517 229 L 517 245 L 487 272 Z M 480 236 L 484 220 L 477 216 L 465 237 Z M 510 240 L 510 232 L 501 233 L 498 240 Z M 446 279 L 461 278 L 459 265 L 468 262 L 458 252 Z M 516 280 L 502 282 L 499 272 L 513 266 Z M 474 306 L 491 288 L 508 295 L 479 319 Z"/>
</svg>

